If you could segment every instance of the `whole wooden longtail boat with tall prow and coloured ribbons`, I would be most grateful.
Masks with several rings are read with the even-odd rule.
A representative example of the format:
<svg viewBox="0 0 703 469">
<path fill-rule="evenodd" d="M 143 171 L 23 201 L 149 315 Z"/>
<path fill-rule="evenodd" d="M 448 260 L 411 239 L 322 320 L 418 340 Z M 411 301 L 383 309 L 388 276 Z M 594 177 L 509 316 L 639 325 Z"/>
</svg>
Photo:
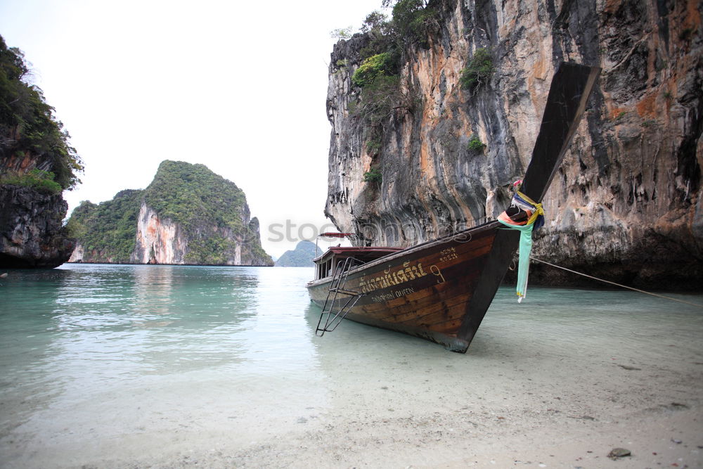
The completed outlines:
<svg viewBox="0 0 703 469">
<path fill-rule="evenodd" d="M 517 293 L 520 300 L 524 296 L 541 200 L 599 73 L 600 68 L 560 64 L 522 185 L 497 220 L 411 248 L 338 246 L 314 259 L 316 276 L 307 288 L 322 308 L 317 335 L 350 319 L 465 353 L 518 246 Z"/>
</svg>

